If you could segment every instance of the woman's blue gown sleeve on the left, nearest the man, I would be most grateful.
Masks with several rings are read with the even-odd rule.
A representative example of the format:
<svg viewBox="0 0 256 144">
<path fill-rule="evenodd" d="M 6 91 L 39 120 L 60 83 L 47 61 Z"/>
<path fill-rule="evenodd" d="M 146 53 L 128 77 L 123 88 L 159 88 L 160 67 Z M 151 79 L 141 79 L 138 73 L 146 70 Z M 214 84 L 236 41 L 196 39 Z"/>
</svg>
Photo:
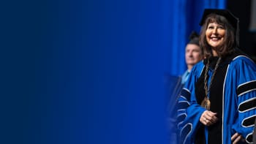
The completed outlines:
<svg viewBox="0 0 256 144">
<path fill-rule="evenodd" d="M 196 129 L 202 125 L 199 119 L 206 109 L 197 104 L 195 96 L 195 83 L 202 70 L 203 62 L 192 68 L 187 83 L 178 97 L 177 124 L 181 143 L 194 143 Z"/>
</svg>

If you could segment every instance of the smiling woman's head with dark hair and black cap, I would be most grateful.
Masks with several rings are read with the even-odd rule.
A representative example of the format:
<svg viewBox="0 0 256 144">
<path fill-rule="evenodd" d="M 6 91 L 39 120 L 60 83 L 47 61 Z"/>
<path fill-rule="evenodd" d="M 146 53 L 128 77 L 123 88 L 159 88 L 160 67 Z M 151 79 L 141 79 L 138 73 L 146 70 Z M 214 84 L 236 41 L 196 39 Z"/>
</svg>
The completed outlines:
<svg viewBox="0 0 256 144">
<path fill-rule="evenodd" d="M 232 53 L 234 47 L 239 47 L 238 18 L 228 11 L 217 14 L 219 13 L 206 10 L 200 22 L 202 26 L 200 45 L 205 48 L 206 57 L 211 56 L 211 53 L 223 57 Z"/>
</svg>

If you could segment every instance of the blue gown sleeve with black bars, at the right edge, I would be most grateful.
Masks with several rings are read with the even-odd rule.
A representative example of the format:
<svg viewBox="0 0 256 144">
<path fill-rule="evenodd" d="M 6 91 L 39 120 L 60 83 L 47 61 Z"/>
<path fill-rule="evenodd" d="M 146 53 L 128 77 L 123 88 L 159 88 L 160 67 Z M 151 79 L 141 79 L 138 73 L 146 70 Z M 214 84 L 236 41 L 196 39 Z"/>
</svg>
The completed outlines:
<svg viewBox="0 0 256 144">
<path fill-rule="evenodd" d="M 256 118 L 256 65 L 249 58 L 242 56 L 230 64 L 230 68 L 230 77 L 233 77 L 230 83 L 234 84 L 236 89 L 229 92 L 232 96 L 230 99 L 234 99 L 234 102 L 225 107 L 232 107 L 230 111 L 234 113 L 233 131 L 242 134 L 246 143 L 252 143 Z"/>
</svg>

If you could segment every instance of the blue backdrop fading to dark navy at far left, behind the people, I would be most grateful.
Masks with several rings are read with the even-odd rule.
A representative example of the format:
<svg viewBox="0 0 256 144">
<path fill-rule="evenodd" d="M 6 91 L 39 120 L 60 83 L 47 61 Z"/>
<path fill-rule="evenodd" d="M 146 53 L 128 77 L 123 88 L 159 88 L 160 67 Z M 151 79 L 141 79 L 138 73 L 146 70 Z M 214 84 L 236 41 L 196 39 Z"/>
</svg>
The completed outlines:
<svg viewBox="0 0 256 144">
<path fill-rule="evenodd" d="M 1 2 L 0 143 L 169 143 L 164 73 L 225 1 Z"/>
</svg>

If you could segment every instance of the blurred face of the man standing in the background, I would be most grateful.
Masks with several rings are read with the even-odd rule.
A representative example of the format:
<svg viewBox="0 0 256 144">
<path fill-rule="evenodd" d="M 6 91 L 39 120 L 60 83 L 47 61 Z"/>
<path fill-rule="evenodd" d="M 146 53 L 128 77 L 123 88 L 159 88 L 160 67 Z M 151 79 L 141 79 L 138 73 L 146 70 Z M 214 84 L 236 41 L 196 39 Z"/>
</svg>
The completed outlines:
<svg viewBox="0 0 256 144">
<path fill-rule="evenodd" d="M 201 60 L 201 50 L 198 45 L 188 44 L 185 53 L 187 65 L 194 66 L 198 61 Z"/>
</svg>

